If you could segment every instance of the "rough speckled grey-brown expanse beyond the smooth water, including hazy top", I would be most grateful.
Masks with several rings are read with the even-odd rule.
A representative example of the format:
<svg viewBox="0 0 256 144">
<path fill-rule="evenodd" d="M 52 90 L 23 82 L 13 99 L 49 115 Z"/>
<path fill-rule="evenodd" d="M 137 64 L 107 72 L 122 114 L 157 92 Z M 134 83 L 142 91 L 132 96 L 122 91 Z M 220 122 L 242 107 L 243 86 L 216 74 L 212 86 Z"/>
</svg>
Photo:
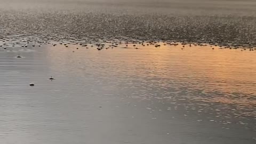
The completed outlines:
<svg viewBox="0 0 256 144">
<path fill-rule="evenodd" d="M 256 46 L 256 2 L 0 1 L 0 37 L 87 37 Z"/>
</svg>

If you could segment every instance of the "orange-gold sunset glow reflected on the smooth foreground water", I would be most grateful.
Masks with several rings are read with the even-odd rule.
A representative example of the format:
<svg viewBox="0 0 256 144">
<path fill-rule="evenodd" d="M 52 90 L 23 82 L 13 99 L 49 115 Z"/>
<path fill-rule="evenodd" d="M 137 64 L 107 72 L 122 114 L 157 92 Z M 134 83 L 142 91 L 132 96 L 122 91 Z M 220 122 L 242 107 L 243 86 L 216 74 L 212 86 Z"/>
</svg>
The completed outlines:
<svg viewBox="0 0 256 144">
<path fill-rule="evenodd" d="M 101 51 L 95 46 L 85 49 L 77 45 L 58 45 L 47 50 L 51 68 L 60 74 L 106 79 L 113 76 L 113 81 L 130 85 L 134 79 L 141 79 L 149 89 L 157 85 L 165 94 L 185 88 L 189 90 L 188 94 L 181 97 L 241 106 L 256 105 L 256 51 L 219 49 L 210 45 L 160 44 L 158 48 L 137 44 L 138 49 L 134 49 L 133 44 L 127 47 L 121 44 Z M 146 89 L 145 85 L 142 89 Z M 194 92 L 197 90 L 201 91 L 198 95 Z"/>
</svg>

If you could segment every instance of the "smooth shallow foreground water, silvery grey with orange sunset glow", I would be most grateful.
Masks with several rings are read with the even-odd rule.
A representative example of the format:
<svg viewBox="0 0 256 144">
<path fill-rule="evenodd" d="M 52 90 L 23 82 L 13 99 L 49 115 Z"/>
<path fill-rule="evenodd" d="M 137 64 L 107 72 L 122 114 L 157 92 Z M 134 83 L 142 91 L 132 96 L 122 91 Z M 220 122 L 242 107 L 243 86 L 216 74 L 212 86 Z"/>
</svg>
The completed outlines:
<svg viewBox="0 0 256 144">
<path fill-rule="evenodd" d="M 1 48 L 1 143 L 255 143 L 256 52 L 160 44 Z"/>
</svg>

